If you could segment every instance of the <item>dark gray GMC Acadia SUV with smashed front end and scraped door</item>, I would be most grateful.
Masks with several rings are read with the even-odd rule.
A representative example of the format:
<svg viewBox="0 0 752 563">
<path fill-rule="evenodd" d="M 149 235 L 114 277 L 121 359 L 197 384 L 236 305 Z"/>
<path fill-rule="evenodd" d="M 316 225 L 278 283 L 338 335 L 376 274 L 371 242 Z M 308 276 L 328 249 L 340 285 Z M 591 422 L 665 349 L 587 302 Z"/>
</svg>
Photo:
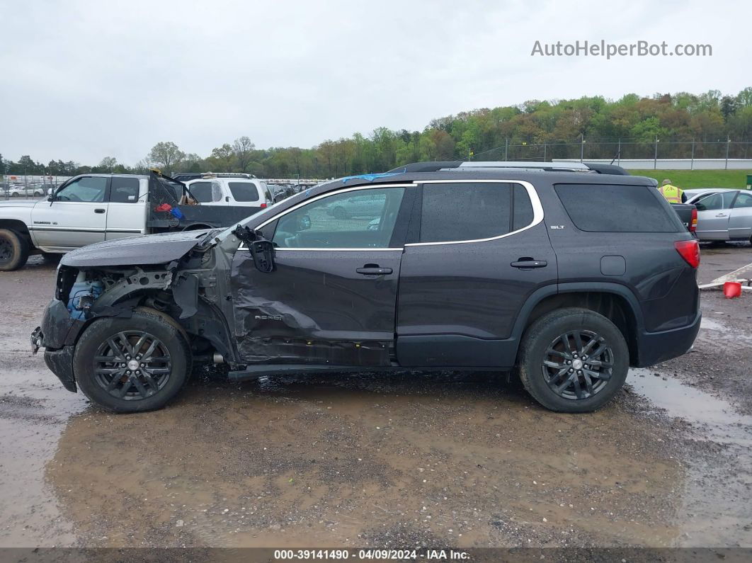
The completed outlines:
<svg viewBox="0 0 752 563">
<path fill-rule="evenodd" d="M 514 370 L 544 407 L 587 412 L 630 365 L 690 349 L 698 265 L 650 180 L 617 167 L 416 163 L 232 229 L 75 250 L 32 347 L 120 413 L 165 405 L 196 362 L 233 380 Z"/>
</svg>

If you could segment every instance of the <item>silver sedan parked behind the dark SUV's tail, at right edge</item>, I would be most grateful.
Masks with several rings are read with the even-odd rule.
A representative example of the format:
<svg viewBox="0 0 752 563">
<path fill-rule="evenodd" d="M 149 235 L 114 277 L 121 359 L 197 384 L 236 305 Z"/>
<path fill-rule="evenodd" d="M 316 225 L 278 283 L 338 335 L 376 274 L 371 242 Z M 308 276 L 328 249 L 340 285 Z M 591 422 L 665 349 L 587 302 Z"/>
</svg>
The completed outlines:
<svg viewBox="0 0 752 563">
<path fill-rule="evenodd" d="M 750 241 L 752 243 L 752 192 L 745 189 L 703 190 L 687 203 L 697 207 L 700 241 Z"/>
</svg>

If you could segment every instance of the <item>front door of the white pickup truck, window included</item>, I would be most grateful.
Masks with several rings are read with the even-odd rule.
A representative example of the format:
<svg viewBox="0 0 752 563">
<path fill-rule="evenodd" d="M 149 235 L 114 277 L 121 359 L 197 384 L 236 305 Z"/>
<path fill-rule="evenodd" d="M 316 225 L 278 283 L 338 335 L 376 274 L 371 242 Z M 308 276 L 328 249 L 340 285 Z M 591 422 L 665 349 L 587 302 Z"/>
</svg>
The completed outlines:
<svg viewBox="0 0 752 563">
<path fill-rule="evenodd" d="M 54 201 L 32 210 L 35 245 L 48 252 L 73 250 L 105 240 L 109 177 L 83 176 L 63 186 Z"/>
</svg>

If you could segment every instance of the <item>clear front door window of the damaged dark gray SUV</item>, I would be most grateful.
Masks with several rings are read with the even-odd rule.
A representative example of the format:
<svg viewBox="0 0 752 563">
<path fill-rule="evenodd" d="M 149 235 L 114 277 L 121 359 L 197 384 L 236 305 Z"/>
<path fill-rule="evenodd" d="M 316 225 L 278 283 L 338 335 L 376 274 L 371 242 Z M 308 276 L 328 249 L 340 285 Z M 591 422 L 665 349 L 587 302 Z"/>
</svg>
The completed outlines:
<svg viewBox="0 0 752 563">
<path fill-rule="evenodd" d="M 277 248 L 388 248 L 405 188 L 340 192 L 280 217 Z"/>
</svg>

